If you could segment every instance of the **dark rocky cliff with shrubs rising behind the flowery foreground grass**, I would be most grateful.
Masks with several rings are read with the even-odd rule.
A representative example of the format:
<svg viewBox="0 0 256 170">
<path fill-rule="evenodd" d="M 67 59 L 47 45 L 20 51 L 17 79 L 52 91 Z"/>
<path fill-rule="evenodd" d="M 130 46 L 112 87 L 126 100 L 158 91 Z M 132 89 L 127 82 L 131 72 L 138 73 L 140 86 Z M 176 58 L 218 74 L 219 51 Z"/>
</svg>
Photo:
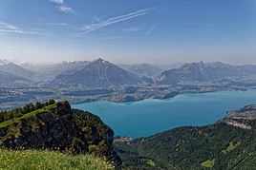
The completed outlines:
<svg viewBox="0 0 256 170">
<path fill-rule="evenodd" d="M 72 109 L 68 102 L 0 128 L 0 147 L 49 148 L 107 157 L 121 161 L 113 148 L 114 132 L 98 117 Z"/>
</svg>

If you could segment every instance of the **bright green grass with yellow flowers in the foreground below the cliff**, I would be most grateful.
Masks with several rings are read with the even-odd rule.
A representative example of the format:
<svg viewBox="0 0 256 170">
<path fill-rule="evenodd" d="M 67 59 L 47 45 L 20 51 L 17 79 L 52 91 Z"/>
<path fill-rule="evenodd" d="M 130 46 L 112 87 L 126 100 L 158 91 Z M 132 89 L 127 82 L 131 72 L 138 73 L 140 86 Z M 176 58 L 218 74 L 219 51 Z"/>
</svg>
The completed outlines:
<svg viewBox="0 0 256 170">
<path fill-rule="evenodd" d="M 84 169 L 112 170 L 111 163 L 87 155 L 69 155 L 54 151 L 10 151 L 0 149 L 0 169 Z"/>
</svg>

